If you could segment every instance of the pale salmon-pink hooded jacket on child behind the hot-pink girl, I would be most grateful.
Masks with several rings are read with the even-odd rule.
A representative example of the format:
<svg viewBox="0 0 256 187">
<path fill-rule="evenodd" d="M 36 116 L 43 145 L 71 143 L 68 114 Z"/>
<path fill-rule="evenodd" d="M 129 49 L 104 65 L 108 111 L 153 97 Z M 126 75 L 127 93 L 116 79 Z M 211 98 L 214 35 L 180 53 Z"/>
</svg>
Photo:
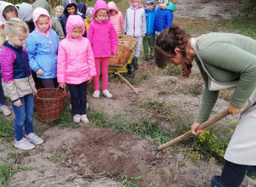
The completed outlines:
<svg viewBox="0 0 256 187">
<path fill-rule="evenodd" d="M 124 17 L 123 14 L 119 11 L 119 8 L 117 8 L 116 4 L 113 2 L 108 3 L 109 9 L 114 9 L 117 14 L 110 15 L 110 23 L 113 24 L 113 27 L 117 33 L 117 35 L 121 35 L 123 28 L 124 28 Z"/>
</svg>

